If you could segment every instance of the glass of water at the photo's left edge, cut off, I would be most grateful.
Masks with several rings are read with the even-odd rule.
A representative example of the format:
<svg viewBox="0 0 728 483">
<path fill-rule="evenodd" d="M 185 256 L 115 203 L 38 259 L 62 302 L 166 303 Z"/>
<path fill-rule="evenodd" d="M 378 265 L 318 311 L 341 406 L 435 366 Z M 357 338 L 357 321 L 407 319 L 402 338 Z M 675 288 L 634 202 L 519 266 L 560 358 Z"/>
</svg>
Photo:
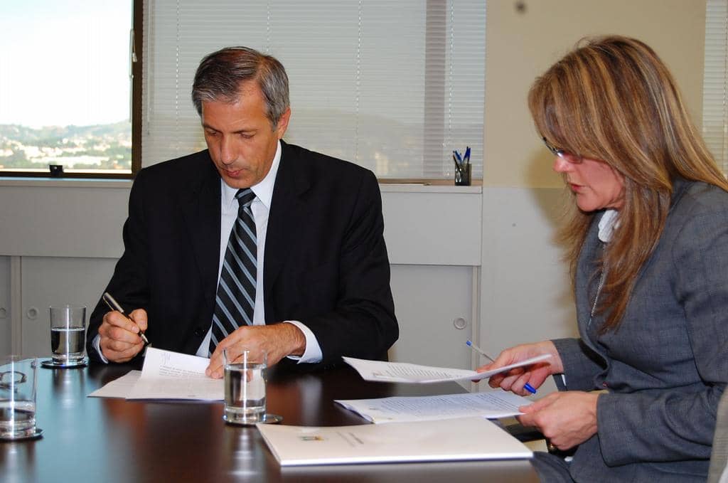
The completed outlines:
<svg viewBox="0 0 728 483">
<path fill-rule="evenodd" d="M 39 438 L 36 428 L 36 358 L 0 359 L 0 440 Z"/>
</svg>

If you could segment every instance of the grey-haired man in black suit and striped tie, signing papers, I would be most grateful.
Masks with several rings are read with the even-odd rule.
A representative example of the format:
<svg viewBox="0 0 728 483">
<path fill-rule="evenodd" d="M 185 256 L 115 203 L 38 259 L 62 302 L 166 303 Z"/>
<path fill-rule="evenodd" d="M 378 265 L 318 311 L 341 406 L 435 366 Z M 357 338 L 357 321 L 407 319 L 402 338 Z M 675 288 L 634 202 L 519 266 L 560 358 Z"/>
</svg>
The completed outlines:
<svg viewBox="0 0 728 483">
<path fill-rule="evenodd" d="M 246 47 L 208 55 L 192 98 L 208 149 L 138 173 L 124 254 L 106 288 L 133 309 L 133 322 L 99 302 L 90 356 L 138 357 L 145 331 L 154 347 L 209 355 L 213 377 L 222 375 L 223 348 L 233 357 L 264 350 L 269 365 L 386 358 L 398 327 L 373 173 L 281 140 L 290 118 L 288 77 L 270 56 Z M 221 298 L 245 312 L 242 297 L 226 299 L 221 274 L 244 216 L 236 195 L 246 188 L 255 196 L 245 209 L 255 225 L 251 238 L 257 235 L 250 297 L 245 292 L 252 315 L 248 323 L 232 315 L 238 327 L 225 330 Z"/>
</svg>

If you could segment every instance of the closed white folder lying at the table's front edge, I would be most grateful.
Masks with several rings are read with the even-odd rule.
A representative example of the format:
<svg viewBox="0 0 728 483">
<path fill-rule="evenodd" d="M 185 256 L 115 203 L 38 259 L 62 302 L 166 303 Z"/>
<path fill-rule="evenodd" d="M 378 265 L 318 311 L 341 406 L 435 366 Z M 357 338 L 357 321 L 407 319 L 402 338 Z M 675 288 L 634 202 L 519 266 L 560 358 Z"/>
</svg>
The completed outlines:
<svg viewBox="0 0 728 483">
<path fill-rule="evenodd" d="M 355 426 L 258 424 L 281 466 L 531 458 L 483 417 Z"/>
</svg>

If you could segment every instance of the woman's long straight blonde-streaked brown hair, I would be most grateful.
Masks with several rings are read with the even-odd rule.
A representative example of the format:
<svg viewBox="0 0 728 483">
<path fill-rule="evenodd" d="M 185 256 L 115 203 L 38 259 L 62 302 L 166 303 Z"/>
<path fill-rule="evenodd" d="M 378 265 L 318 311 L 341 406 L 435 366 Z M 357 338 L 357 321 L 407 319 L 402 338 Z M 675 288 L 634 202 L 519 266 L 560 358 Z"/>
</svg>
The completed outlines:
<svg viewBox="0 0 728 483">
<path fill-rule="evenodd" d="M 529 108 L 550 144 L 604 160 L 625 179 L 619 226 L 600 260 L 609 267 L 596 310 L 606 316 L 604 332 L 619 326 L 638 273 L 657 246 L 675 178 L 705 181 L 726 191 L 728 182 L 654 50 L 621 36 L 579 44 L 536 79 Z M 579 211 L 572 194 L 559 233 L 572 283 L 595 214 Z"/>
</svg>

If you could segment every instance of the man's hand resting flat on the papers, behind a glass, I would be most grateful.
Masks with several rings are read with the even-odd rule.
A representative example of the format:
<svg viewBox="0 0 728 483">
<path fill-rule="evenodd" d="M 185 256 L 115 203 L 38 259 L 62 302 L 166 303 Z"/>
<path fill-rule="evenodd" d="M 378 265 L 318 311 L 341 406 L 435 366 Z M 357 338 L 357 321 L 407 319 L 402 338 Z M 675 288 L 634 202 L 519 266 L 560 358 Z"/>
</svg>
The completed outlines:
<svg viewBox="0 0 728 483">
<path fill-rule="evenodd" d="M 268 366 L 272 366 L 285 356 L 301 356 L 306 349 L 306 337 L 293 323 L 275 323 L 270 326 L 242 326 L 222 340 L 210 357 L 210 365 L 205 374 L 220 379 L 223 377 L 223 349 L 228 350 L 228 358 L 237 359 L 243 350 L 253 353 L 265 352 Z"/>
</svg>

